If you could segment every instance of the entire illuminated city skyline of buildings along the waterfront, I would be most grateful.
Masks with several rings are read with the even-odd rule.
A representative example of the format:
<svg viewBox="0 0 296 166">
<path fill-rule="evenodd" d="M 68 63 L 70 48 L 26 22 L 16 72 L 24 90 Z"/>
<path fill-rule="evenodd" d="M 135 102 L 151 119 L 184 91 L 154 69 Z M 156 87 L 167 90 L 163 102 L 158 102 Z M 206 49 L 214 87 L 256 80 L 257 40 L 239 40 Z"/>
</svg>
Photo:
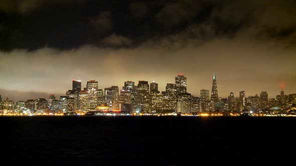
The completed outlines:
<svg viewBox="0 0 296 166">
<path fill-rule="evenodd" d="M 48 99 L 37 98 L 15 102 L 0 95 L 0 111 L 10 113 L 66 113 L 66 112 L 130 112 L 130 113 L 178 113 L 196 114 L 202 112 L 264 112 L 288 109 L 296 103 L 296 94 L 285 95 L 283 86 L 276 98 L 268 98 L 266 91 L 260 95 L 245 96 L 239 91 L 235 97 L 230 92 L 227 98 L 218 96 L 217 80 L 214 72 L 211 93 L 201 89 L 200 97 L 187 91 L 187 78 L 177 75 L 175 83 L 167 83 L 165 91 L 159 91 L 158 83 L 139 80 L 125 81 L 124 86 L 98 88 L 98 81 L 89 80 L 81 87 L 81 80 L 72 80 L 72 89 L 64 96 L 56 98 L 50 94 Z"/>
</svg>

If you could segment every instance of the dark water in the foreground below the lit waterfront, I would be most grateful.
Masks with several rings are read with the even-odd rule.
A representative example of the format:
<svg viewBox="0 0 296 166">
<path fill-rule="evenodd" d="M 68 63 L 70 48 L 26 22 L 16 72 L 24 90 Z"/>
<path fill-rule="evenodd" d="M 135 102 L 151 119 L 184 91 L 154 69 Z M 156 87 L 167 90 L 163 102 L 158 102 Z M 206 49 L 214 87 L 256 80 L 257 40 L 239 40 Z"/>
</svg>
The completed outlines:
<svg viewBox="0 0 296 166">
<path fill-rule="evenodd" d="M 0 124 L 1 165 L 296 164 L 291 117 L 2 116 Z"/>
</svg>

